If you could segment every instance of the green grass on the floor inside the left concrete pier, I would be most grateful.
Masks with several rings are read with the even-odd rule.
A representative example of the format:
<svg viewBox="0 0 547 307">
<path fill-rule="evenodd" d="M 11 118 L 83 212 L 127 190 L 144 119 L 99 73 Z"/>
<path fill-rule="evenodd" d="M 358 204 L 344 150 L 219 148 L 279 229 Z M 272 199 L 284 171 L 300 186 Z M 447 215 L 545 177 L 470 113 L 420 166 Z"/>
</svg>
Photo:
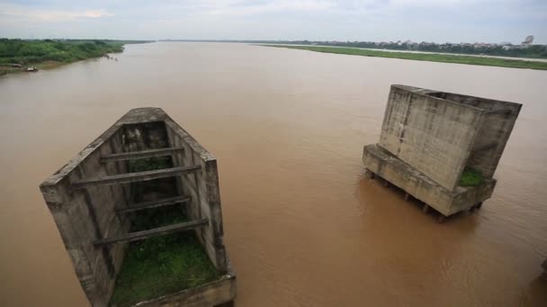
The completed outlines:
<svg viewBox="0 0 547 307">
<path fill-rule="evenodd" d="M 185 221 L 179 206 L 158 208 L 137 214 L 131 232 Z M 130 306 L 203 285 L 219 276 L 193 231 L 131 242 L 116 277 L 111 305 Z"/>
</svg>

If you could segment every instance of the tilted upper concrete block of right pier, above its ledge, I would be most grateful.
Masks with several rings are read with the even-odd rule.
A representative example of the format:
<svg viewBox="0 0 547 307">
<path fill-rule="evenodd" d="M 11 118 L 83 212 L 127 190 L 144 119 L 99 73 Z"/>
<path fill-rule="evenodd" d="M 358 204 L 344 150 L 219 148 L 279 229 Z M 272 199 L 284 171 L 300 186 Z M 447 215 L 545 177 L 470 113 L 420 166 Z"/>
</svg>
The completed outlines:
<svg viewBox="0 0 547 307">
<path fill-rule="evenodd" d="M 492 178 L 521 105 L 392 85 L 379 145 L 444 189 L 471 166 Z"/>
</svg>

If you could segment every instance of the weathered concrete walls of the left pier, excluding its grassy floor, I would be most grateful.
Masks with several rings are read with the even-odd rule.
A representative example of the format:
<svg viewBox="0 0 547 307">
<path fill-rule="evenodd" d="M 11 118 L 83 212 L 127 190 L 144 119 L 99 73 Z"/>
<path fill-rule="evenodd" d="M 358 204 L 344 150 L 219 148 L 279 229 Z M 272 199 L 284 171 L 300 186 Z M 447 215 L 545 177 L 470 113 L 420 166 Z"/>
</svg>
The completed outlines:
<svg viewBox="0 0 547 307">
<path fill-rule="evenodd" d="M 142 156 L 168 153 L 173 168 L 127 175 L 128 163 L 124 159 L 132 157 L 126 155 L 131 152 Z M 163 110 L 134 109 L 40 184 L 76 276 L 93 306 L 106 306 L 110 301 L 127 245 L 95 246 L 94 242 L 126 235 L 130 215 L 120 213 L 136 202 L 162 200 L 154 195 L 151 199 L 135 198 L 135 189 L 143 180 L 164 180 L 162 184 L 171 184 L 178 196 L 192 198 L 184 202 L 190 218 L 209 222 L 195 232 L 217 270 L 228 274 L 215 157 Z M 234 276 L 233 272 L 230 276 Z M 235 297 L 235 277 L 230 280 L 233 291 L 229 291 L 231 296 L 225 302 Z M 201 305 L 199 301 L 195 298 L 195 306 L 209 306 L 209 301 Z"/>
</svg>

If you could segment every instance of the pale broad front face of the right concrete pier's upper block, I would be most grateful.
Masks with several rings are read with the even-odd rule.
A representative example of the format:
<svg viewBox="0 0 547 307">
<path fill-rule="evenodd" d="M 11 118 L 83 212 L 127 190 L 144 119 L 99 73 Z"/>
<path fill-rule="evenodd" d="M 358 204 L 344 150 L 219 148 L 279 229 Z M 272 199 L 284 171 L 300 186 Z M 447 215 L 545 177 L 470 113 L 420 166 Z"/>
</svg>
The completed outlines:
<svg viewBox="0 0 547 307">
<path fill-rule="evenodd" d="M 445 189 L 453 190 L 483 111 L 426 93 L 391 86 L 379 145 Z"/>
</svg>

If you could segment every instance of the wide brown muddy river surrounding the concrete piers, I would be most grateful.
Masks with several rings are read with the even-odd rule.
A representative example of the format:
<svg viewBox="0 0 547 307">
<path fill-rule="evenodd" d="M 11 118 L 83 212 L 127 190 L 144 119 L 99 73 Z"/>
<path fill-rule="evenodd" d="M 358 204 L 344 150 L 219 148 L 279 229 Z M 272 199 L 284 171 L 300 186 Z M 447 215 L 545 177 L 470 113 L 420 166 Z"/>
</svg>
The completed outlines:
<svg viewBox="0 0 547 307">
<path fill-rule="evenodd" d="M 547 306 L 547 71 L 216 43 L 0 78 L 0 305 L 85 306 L 38 185 L 127 110 L 219 159 L 238 306 Z M 363 179 L 391 83 L 523 103 L 475 215 Z"/>
</svg>

